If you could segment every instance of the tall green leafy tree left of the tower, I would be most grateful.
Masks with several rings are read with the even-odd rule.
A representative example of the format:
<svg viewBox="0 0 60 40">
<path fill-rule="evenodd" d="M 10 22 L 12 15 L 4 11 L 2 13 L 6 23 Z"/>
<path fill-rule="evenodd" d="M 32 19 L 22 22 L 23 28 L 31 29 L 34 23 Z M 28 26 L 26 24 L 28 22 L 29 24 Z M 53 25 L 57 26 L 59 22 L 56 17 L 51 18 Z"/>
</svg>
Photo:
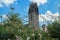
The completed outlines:
<svg viewBox="0 0 60 40">
<path fill-rule="evenodd" d="M 8 19 L 3 21 L 3 25 L 0 25 L 0 39 L 15 40 L 21 34 L 20 30 L 22 30 L 23 25 L 21 18 L 17 13 L 10 13 L 7 17 Z"/>
</svg>

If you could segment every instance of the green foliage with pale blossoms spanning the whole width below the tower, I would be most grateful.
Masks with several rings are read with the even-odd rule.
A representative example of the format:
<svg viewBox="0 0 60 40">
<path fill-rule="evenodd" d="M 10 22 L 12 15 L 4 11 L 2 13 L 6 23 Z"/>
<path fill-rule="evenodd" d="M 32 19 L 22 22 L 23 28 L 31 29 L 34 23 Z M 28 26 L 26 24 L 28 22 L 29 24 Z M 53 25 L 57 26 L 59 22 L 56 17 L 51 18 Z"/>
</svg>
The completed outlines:
<svg viewBox="0 0 60 40">
<path fill-rule="evenodd" d="M 60 24 L 53 22 L 48 25 L 48 32 L 41 30 L 34 30 L 29 27 L 29 24 L 23 25 L 19 14 L 8 14 L 8 19 L 4 20 L 0 24 L 0 40 L 60 40 Z M 17 36 L 17 37 L 16 37 Z M 52 39 L 53 38 L 53 39 Z"/>
</svg>

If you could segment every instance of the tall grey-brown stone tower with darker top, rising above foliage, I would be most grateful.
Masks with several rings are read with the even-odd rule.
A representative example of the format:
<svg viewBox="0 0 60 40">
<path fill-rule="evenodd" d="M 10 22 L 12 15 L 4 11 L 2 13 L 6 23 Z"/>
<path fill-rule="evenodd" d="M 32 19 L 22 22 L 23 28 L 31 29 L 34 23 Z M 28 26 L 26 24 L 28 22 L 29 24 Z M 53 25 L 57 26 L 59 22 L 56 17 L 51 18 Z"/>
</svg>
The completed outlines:
<svg viewBox="0 0 60 40">
<path fill-rule="evenodd" d="M 38 7 L 37 3 L 31 3 L 29 6 L 29 24 L 31 27 L 33 27 L 34 30 L 39 29 L 39 12 L 38 12 Z"/>
</svg>

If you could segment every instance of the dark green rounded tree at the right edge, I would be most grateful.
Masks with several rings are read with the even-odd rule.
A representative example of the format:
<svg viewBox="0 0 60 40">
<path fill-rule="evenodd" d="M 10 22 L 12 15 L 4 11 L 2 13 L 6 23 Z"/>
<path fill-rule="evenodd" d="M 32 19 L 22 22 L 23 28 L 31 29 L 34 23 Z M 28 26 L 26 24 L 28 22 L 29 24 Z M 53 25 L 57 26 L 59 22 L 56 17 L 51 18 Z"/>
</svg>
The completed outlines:
<svg viewBox="0 0 60 40">
<path fill-rule="evenodd" d="M 49 24 L 48 33 L 50 34 L 51 38 L 58 38 L 60 40 L 60 23 L 53 22 L 52 24 Z"/>
</svg>

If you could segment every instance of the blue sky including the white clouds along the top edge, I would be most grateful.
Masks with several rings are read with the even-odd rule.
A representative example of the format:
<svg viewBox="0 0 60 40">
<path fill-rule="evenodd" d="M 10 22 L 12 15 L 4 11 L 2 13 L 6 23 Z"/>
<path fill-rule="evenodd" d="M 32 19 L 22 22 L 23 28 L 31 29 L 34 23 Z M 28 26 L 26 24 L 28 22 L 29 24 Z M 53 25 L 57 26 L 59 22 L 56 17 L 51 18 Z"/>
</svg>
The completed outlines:
<svg viewBox="0 0 60 40">
<path fill-rule="evenodd" d="M 14 7 L 14 12 L 20 13 L 24 18 L 28 15 L 30 2 L 36 2 L 39 8 L 39 14 L 57 13 L 60 0 L 0 0 L 0 15 L 10 12 L 10 7 Z"/>
</svg>

